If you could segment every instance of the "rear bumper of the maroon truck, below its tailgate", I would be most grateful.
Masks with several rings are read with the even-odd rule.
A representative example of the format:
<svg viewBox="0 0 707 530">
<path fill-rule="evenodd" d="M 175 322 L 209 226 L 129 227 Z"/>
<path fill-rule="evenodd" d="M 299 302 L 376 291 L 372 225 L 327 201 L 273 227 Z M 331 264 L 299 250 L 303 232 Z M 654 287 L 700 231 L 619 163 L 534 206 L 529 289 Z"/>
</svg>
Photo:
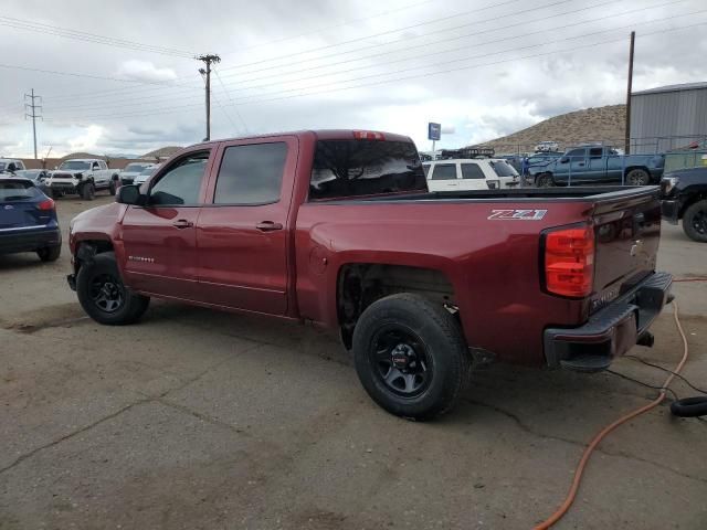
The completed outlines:
<svg viewBox="0 0 707 530">
<path fill-rule="evenodd" d="M 579 328 L 545 330 L 545 357 L 550 368 L 595 372 L 633 348 L 672 298 L 673 276 L 654 273 L 629 293 L 592 315 Z"/>
</svg>

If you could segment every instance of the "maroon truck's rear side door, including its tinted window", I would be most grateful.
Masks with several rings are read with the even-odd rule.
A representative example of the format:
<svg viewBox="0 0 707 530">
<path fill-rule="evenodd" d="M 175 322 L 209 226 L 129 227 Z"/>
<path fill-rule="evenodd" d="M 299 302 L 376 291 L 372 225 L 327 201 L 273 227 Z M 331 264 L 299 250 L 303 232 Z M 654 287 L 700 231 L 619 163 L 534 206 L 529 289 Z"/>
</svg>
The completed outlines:
<svg viewBox="0 0 707 530">
<path fill-rule="evenodd" d="M 297 141 L 231 141 L 219 149 L 197 223 L 199 292 L 219 306 L 285 315 L 288 211 Z"/>
</svg>

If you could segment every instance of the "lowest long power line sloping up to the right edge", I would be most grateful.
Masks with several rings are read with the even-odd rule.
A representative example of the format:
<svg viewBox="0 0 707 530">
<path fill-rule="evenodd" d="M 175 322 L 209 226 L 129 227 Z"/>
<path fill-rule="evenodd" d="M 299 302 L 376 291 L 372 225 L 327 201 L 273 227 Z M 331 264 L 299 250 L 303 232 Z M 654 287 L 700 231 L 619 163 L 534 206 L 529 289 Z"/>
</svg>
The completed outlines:
<svg viewBox="0 0 707 530">
<path fill-rule="evenodd" d="M 655 35 L 655 34 L 667 33 L 667 32 L 672 32 L 672 31 L 680 31 L 680 30 L 703 26 L 705 24 L 707 24 L 707 22 L 699 22 L 699 23 L 689 24 L 689 25 L 685 25 L 685 26 L 668 28 L 668 29 L 664 29 L 664 30 L 658 30 L 658 31 L 653 31 L 653 32 L 641 34 L 641 35 L 636 35 L 636 38 L 641 39 L 641 38 L 651 36 L 651 35 Z M 506 60 L 500 60 L 500 61 L 493 61 L 493 62 L 467 65 L 467 66 L 461 66 L 461 67 L 455 67 L 455 68 L 447 68 L 447 70 L 436 71 L 436 72 L 428 72 L 428 73 L 424 73 L 423 75 L 425 77 L 426 76 L 433 76 L 433 75 L 443 75 L 443 74 L 449 74 L 449 73 L 453 73 L 453 72 L 461 72 L 461 71 L 465 71 L 465 70 L 479 68 L 479 67 L 485 67 L 485 66 L 493 66 L 493 65 L 497 65 L 497 64 L 505 64 L 505 63 L 510 63 L 510 62 L 516 62 L 516 61 L 524 61 L 524 60 L 527 60 L 527 59 L 537 59 L 537 57 L 558 54 L 558 53 L 572 52 L 572 51 L 577 51 L 577 50 L 587 50 L 587 49 L 591 49 L 591 47 L 594 47 L 594 46 L 601 46 L 601 45 L 606 45 L 606 44 L 613 44 L 613 43 L 616 43 L 616 42 L 623 42 L 624 40 L 625 40 L 624 36 L 618 38 L 618 39 L 612 39 L 612 40 L 602 40 L 600 42 L 593 42 L 593 43 L 579 45 L 579 46 L 573 46 L 573 47 L 569 47 L 569 49 L 553 50 L 553 51 L 550 51 L 550 52 L 536 53 L 536 54 L 524 55 L 524 56 L 519 56 L 519 57 L 511 57 L 511 59 L 506 59 Z M 394 74 L 394 73 L 398 73 L 398 72 L 391 72 L 391 74 Z M 370 87 L 370 86 L 379 86 L 379 85 L 383 85 L 383 84 L 395 83 L 395 82 L 400 82 L 400 81 L 409 81 L 409 80 L 420 80 L 420 74 L 408 75 L 408 76 L 403 76 L 403 77 L 395 77 L 395 78 L 391 78 L 391 80 L 381 80 L 381 81 L 373 82 L 373 83 L 362 83 L 362 84 L 354 85 L 354 86 L 345 86 L 345 87 L 338 87 L 338 88 L 330 88 L 330 89 L 326 89 L 326 91 L 312 92 L 312 93 L 307 93 L 307 94 L 295 94 L 295 95 L 271 97 L 271 98 L 263 98 L 263 99 L 251 99 L 251 100 L 247 100 L 247 102 L 239 102 L 239 105 L 253 105 L 253 104 L 261 104 L 261 103 L 292 99 L 292 98 L 295 98 L 295 97 L 308 97 L 308 96 L 315 96 L 315 95 L 321 95 L 321 94 L 331 94 L 331 93 L 335 93 L 335 92 L 350 91 L 350 89 L 355 89 L 355 88 L 365 88 L 365 87 Z M 349 80 L 348 82 L 351 82 L 351 81 L 356 81 L 356 80 Z M 274 93 L 274 94 L 276 94 L 276 93 Z M 177 109 L 193 108 L 193 107 L 198 107 L 198 106 L 200 106 L 200 105 L 181 105 L 181 106 L 176 106 L 176 107 L 167 107 L 167 108 L 157 109 L 157 112 L 155 112 L 155 113 L 130 113 L 130 114 L 109 114 L 109 115 L 101 115 L 101 116 L 83 116 L 83 117 L 81 117 L 78 119 L 97 119 L 97 118 L 119 119 L 119 118 L 130 118 L 130 117 L 136 117 L 136 116 L 148 116 L 148 115 L 158 115 L 158 114 L 172 113 L 173 110 L 177 110 Z"/>
</svg>

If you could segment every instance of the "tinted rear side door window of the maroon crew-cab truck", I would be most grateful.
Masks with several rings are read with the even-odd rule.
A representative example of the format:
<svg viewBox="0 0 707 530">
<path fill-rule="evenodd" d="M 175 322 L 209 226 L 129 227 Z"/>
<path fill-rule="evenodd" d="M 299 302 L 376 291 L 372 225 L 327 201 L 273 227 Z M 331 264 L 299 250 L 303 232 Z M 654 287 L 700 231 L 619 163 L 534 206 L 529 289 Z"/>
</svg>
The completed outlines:
<svg viewBox="0 0 707 530">
<path fill-rule="evenodd" d="M 217 179 L 214 204 L 264 204 L 279 201 L 287 144 L 228 147 Z"/>
</svg>

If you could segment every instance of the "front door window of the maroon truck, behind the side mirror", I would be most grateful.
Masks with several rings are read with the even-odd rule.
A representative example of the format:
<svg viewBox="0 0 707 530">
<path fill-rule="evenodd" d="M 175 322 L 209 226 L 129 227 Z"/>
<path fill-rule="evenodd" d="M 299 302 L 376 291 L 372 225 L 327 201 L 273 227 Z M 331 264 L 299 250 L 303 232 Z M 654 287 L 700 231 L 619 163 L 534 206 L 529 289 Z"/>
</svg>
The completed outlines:
<svg viewBox="0 0 707 530">
<path fill-rule="evenodd" d="M 179 161 L 150 190 L 150 204 L 196 205 L 209 153 L 196 153 Z"/>
</svg>

